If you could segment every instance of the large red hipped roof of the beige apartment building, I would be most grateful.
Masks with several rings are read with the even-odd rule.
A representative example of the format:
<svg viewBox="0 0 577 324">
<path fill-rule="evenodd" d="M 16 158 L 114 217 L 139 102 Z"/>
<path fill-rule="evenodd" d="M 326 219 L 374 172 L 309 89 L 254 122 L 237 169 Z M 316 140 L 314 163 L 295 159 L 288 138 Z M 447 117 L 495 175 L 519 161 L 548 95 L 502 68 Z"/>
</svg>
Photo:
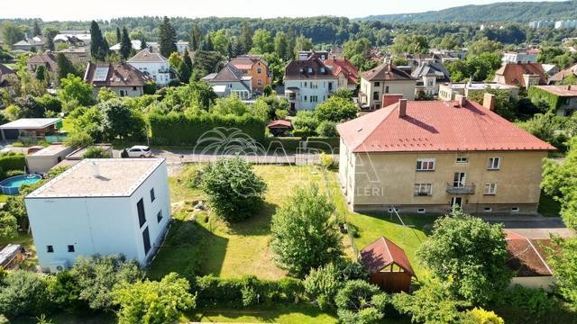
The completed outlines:
<svg viewBox="0 0 577 324">
<path fill-rule="evenodd" d="M 353 152 L 554 150 L 479 103 L 408 101 L 406 116 L 398 104 L 337 126 Z"/>
</svg>

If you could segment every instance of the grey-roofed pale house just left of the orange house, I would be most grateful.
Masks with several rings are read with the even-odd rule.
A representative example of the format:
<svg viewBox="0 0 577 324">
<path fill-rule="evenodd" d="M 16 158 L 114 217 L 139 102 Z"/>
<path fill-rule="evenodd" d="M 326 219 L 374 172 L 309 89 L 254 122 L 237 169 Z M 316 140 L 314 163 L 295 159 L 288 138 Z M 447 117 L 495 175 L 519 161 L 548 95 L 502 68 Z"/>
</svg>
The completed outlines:
<svg viewBox="0 0 577 324">
<path fill-rule="evenodd" d="M 252 76 L 245 76 L 243 71 L 227 63 L 218 73 L 211 73 L 202 78 L 213 86 L 215 94 L 220 97 L 236 94 L 243 100 L 252 98 Z"/>
</svg>

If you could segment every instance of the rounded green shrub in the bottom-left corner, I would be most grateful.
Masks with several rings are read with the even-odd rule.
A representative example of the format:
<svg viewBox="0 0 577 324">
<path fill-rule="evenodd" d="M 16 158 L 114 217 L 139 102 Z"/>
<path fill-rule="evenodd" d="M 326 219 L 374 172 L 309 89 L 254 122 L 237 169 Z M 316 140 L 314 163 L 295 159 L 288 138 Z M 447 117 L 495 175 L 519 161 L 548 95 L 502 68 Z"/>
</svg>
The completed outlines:
<svg viewBox="0 0 577 324">
<path fill-rule="evenodd" d="M 44 276 L 15 270 L 0 283 L 0 313 L 8 316 L 40 315 L 48 305 Z"/>
</svg>

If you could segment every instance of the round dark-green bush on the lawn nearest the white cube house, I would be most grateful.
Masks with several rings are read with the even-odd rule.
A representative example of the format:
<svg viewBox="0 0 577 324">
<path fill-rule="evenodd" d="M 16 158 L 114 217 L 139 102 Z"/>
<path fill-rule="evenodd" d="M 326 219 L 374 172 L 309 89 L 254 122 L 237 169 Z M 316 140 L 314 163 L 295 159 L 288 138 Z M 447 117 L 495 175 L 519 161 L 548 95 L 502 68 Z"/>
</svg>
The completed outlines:
<svg viewBox="0 0 577 324">
<path fill-rule="evenodd" d="M 243 157 L 221 158 L 206 165 L 202 173 L 208 205 L 221 219 L 246 220 L 261 207 L 266 184 Z"/>
</svg>

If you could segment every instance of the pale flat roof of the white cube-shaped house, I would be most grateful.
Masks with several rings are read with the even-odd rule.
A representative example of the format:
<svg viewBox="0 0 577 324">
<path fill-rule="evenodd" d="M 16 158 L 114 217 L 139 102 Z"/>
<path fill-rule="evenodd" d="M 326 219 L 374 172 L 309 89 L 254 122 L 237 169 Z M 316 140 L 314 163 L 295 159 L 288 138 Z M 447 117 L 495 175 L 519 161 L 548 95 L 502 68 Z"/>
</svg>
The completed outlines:
<svg viewBox="0 0 577 324">
<path fill-rule="evenodd" d="M 87 158 L 26 198 L 128 197 L 162 163 L 164 158 Z"/>
</svg>

